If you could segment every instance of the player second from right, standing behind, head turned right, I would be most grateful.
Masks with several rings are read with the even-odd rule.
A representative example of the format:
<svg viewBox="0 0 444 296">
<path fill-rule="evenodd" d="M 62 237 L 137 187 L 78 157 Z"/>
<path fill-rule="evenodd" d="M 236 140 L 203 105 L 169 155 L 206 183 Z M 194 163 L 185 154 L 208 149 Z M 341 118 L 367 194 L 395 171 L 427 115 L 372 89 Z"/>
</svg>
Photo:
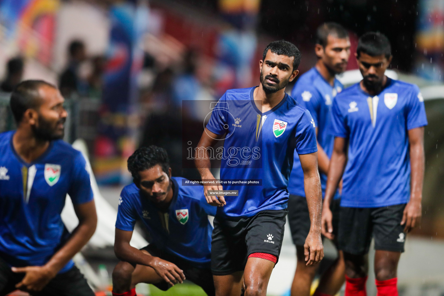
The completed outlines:
<svg viewBox="0 0 444 296">
<path fill-rule="evenodd" d="M 345 71 L 350 56 L 350 40 L 348 32 L 340 24 L 325 23 L 316 31 L 315 53 L 316 65 L 297 80 L 291 96 L 297 103 L 307 108 L 316 125 L 317 155 L 321 175 L 322 194 L 325 194 L 327 172 L 330 156 L 333 151 L 334 137 L 327 130 L 327 122 L 331 116 L 331 106 L 335 96 L 342 91 L 342 84 L 335 75 Z M 310 218 L 305 198 L 304 173 L 299 162 L 299 154 L 294 153 L 293 170 L 290 174 L 288 191 L 288 221 L 293 243 L 296 245 L 297 265 L 294 273 L 291 295 L 309 296 L 311 283 L 318 266 L 305 264 L 304 244 L 310 230 Z M 333 211 L 339 210 L 340 195 L 336 194 L 332 202 Z M 333 224 L 337 229 L 338 217 L 334 216 Z M 336 245 L 336 233 L 329 233 Z M 315 296 L 336 295 L 344 284 L 344 260 L 342 252 L 324 272 L 319 280 Z"/>
</svg>

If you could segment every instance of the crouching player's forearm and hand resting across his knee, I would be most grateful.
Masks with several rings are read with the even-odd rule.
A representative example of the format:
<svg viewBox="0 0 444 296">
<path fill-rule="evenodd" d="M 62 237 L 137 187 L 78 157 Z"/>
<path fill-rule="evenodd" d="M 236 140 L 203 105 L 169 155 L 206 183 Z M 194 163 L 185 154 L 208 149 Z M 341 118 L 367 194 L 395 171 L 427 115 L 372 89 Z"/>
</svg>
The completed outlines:
<svg viewBox="0 0 444 296">
<path fill-rule="evenodd" d="M 170 285 L 182 283 L 185 280 L 182 269 L 177 265 L 131 247 L 132 235 L 132 231 L 115 229 L 114 253 L 119 260 L 149 266 Z"/>
</svg>

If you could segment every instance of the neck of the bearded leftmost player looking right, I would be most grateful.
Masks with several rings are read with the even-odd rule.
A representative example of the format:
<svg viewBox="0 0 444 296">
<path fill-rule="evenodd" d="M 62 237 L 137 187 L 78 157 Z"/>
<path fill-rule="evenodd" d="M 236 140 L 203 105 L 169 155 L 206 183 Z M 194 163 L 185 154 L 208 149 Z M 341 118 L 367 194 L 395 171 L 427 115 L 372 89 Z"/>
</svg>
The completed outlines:
<svg viewBox="0 0 444 296">
<path fill-rule="evenodd" d="M 49 141 L 39 140 L 32 131 L 19 128 L 12 137 L 12 146 L 25 162 L 31 163 L 44 154 Z"/>
</svg>

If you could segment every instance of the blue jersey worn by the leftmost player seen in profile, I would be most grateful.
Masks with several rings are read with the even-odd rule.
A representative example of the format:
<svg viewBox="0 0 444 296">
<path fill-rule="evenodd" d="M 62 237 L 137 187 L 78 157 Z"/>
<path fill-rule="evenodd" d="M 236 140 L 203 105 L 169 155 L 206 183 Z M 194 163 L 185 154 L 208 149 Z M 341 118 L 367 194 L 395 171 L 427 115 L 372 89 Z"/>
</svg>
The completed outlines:
<svg viewBox="0 0 444 296">
<path fill-rule="evenodd" d="M 66 142 L 52 141 L 26 163 L 12 146 L 14 133 L 0 134 L 0 257 L 11 266 L 41 266 L 69 236 L 60 217 L 66 194 L 74 205 L 91 201 L 91 181 L 83 155 Z"/>
</svg>

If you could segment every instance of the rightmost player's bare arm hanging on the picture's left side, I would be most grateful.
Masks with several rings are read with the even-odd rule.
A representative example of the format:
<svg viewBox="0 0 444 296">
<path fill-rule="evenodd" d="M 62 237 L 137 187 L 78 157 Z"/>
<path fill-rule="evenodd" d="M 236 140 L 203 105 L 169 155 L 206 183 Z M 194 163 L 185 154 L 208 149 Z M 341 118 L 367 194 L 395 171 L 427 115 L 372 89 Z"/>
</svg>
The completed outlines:
<svg viewBox="0 0 444 296">
<path fill-rule="evenodd" d="M 347 163 L 346 155 L 347 139 L 336 137 L 333 144 L 332 158 L 330 159 L 327 187 L 325 189 L 324 206 L 322 208 L 322 234 L 333 239 L 333 214 L 330 210 L 330 204 L 336 193 L 337 186 L 344 174 L 345 164 Z"/>
</svg>

